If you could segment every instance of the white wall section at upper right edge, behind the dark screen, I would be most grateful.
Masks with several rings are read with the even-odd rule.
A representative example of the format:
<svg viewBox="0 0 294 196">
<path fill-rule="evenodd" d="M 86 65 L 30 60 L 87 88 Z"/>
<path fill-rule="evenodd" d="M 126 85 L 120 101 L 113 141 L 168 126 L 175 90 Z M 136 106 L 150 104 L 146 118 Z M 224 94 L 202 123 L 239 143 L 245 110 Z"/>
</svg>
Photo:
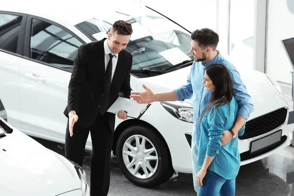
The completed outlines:
<svg viewBox="0 0 294 196">
<path fill-rule="evenodd" d="M 292 83 L 292 66 L 281 40 L 294 37 L 293 0 L 269 0 L 266 73 L 279 82 Z M 294 9 L 294 3 L 291 5 Z"/>
</svg>

